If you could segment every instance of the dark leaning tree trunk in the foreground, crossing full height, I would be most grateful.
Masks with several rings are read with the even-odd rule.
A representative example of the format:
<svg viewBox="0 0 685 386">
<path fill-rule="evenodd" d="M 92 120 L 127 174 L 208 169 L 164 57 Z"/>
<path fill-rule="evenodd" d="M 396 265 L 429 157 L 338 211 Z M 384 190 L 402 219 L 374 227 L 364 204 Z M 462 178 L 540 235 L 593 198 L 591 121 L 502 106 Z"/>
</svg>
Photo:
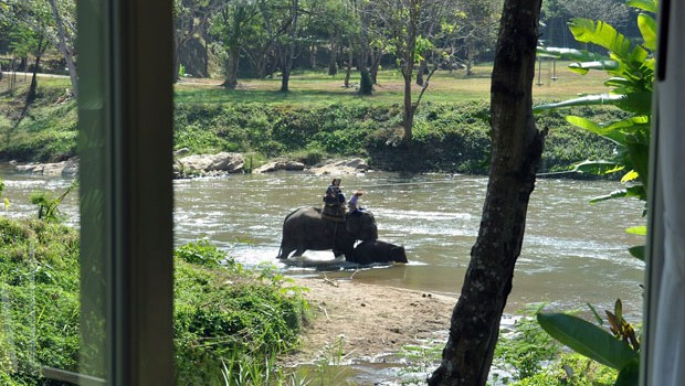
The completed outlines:
<svg viewBox="0 0 685 386">
<path fill-rule="evenodd" d="M 487 380 L 544 144 L 531 112 L 540 2 L 505 1 L 491 88 L 489 183 L 442 363 L 429 379 L 432 386 Z"/>
</svg>

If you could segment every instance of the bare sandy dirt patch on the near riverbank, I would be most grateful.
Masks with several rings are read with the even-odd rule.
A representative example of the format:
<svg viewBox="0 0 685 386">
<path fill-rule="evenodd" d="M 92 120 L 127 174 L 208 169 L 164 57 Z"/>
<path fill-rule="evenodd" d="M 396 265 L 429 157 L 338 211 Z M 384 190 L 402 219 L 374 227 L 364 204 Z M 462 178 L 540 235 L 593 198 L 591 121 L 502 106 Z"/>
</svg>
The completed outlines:
<svg viewBox="0 0 685 386">
<path fill-rule="evenodd" d="M 346 361 L 375 361 L 403 345 L 444 341 L 456 304 L 456 298 L 354 280 L 296 278 L 292 285 L 310 289 L 304 297 L 314 318 L 286 362 L 314 362 L 340 343 Z"/>
</svg>

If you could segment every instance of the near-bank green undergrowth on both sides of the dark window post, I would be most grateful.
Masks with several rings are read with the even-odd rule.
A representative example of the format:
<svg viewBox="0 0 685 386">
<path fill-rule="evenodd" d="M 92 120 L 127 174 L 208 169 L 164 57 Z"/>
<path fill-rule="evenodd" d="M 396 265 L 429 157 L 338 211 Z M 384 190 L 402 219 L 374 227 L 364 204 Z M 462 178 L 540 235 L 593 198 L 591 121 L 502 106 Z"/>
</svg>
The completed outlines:
<svg viewBox="0 0 685 386">
<path fill-rule="evenodd" d="M 0 384 L 59 385 L 44 366 L 78 371 L 78 246 L 57 222 L 0 216 Z M 177 384 L 236 384 L 297 343 L 304 289 L 272 267 L 247 270 L 203 239 L 179 247 L 175 266 Z"/>
</svg>

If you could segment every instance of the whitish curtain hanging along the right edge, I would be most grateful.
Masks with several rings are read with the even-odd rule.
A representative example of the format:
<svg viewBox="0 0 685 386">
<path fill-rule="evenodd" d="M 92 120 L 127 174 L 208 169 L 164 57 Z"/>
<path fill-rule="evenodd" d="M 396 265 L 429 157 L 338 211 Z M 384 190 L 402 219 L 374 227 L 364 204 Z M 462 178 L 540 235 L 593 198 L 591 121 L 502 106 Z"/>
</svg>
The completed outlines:
<svg viewBox="0 0 685 386">
<path fill-rule="evenodd" d="M 643 383 L 685 385 L 685 4 L 663 0 L 658 47 L 655 170 Z M 668 14 L 663 14 L 667 12 Z M 663 36 L 667 39 L 664 40 Z M 665 55 L 664 55 L 665 54 Z M 660 63 L 660 60 L 662 63 Z M 665 65 L 665 67 L 664 67 Z M 644 367 L 643 367 L 644 368 Z"/>
</svg>

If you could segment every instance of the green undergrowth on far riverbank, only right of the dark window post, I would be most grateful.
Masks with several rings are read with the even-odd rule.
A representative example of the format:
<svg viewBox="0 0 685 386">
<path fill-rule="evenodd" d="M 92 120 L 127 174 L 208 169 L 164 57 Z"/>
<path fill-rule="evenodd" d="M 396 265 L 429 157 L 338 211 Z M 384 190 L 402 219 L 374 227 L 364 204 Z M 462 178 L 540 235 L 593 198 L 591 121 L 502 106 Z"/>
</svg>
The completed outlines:
<svg viewBox="0 0 685 386">
<path fill-rule="evenodd" d="M 620 114 L 598 107 L 580 114 L 609 119 Z M 362 157 L 388 171 L 485 174 L 489 163 L 489 105 L 486 101 L 425 104 L 415 117 L 414 140 L 402 143 L 399 105 L 325 107 L 291 105 L 177 105 L 176 148 L 193 153 L 255 152 L 262 159 L 289 156 L 305 164 L 333 157 Z M 537 117 L 549 133 L 540 172 L 568 171 L 588 158 L 613 157 L 613 144 L 573 129 L 565 114 Z"/>
</svg>

